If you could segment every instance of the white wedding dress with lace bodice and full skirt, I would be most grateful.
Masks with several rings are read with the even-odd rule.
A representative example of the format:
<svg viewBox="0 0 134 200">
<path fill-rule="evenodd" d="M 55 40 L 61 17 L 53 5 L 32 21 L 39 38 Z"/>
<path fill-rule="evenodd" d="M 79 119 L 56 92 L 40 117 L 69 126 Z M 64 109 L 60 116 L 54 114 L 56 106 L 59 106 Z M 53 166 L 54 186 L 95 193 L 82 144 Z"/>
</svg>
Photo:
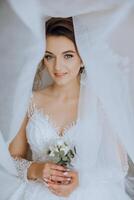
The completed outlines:
<svg viewBox="0 0 134 200">
<path fill-rule="evenodd" d="M 34 161 L 44 161 L 43 155 L 45 146 L 49 140 L 64 137 L 77 144 L 79 135 L 76 133 L 79 120 L 73 122 L 64 130 L 64 135 L 58 135 L 58 129 L 52 122 L 50 117 L 42 110 L 35 106 L 29 112 L 29 122 L 26 127 L 27 140 L 32 151 L 32 159 Z M 86 138 L 85 138 L 86 140 Z M 84 145 L 83 143 L 81 145 Z M 79 146 L 80 148 L 80 146 Z M 90 147 L 89 147 L 90 148 Z M 81 150 L 79 149 L 79 153 Z M 75 163 L 76 169 L 79 169 L 79 159 Z M 68 197 L 60 197 L 53 194 L 43 182 L 23 181 L 17 191 L 11 196 L 11 200 L 130 200 L 124 191 L 123 176 L 120 171 L 116 171 L 114 167 L 102 168 L 100 172 L 93 170 L 86 173 L 80 172 L 79 187 Z"/>
</svg>

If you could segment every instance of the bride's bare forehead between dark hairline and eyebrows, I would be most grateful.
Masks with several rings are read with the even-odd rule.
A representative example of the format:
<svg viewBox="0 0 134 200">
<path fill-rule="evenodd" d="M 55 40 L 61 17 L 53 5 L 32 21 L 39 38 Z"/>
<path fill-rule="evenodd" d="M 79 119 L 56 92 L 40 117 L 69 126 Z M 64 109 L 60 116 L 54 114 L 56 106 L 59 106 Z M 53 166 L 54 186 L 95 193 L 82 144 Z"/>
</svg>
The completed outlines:
<svg viewBox="0 0 134 200">
<path fill-rule="evenodd" d="M 76 51 L 74 43 L 65 36 L 47 36 L 46 50 L 53 54 L 59 54 L 64 51 Z"/>
</svg>

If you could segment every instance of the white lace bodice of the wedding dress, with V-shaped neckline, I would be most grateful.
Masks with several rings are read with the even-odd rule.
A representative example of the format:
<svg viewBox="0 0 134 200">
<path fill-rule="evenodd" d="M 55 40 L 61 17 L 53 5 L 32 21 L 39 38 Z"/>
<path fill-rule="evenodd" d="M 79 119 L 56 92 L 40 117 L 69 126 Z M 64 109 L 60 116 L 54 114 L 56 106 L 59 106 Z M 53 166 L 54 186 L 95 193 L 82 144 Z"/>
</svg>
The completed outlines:
<svg viewBox="0 0 134 200">
<path fill-rule="evenodd" d="M 78 124 L 78 119 L 66 126 L 62 133 L 59 132 L 58 127 L 50 117 L 45 114 L 43 109 L 37 108 L 33 102 L 33 95 L 31 97 L 28 108 L 28 124 L 26 127 L 27 140 L 32 151 L 32 159 L 36 161 L 44 161 L 45 148 L 51 140 L 56 138 L 66 138 L 74 140 L 75 128 Z"/>
</svg>

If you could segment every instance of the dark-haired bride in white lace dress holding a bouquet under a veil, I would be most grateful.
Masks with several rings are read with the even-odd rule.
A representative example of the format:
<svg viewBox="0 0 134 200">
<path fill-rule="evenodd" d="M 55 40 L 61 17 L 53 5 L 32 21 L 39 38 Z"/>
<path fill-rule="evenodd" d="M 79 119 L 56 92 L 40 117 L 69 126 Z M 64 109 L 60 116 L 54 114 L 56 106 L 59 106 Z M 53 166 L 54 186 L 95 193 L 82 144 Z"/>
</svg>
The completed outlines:
<svg viewBox="0 0 134 200">
<path fill-rule="evenodd" d="M 46 51 L 35 76 L 35 91 L 22 126 L 9 145 L 22 180 L 11 200 L 130 199 L 124 186 L 127 153 L 110 129 L 99 99 L 90 90 L 90 94 L 84 92 L 86 66 L 74 35 L 71 17 L 46 22 Z M 52 79 L 47 87 L 39 84 L 44 69 Z M 82 101 L 85 95 L 89 99 Z M 80 105 L 87 108 L 90 121 L 80 112 Z M 73 168 L 46 159 L 47 145 L 57 138 L 76 146 Z"/>
</svg>

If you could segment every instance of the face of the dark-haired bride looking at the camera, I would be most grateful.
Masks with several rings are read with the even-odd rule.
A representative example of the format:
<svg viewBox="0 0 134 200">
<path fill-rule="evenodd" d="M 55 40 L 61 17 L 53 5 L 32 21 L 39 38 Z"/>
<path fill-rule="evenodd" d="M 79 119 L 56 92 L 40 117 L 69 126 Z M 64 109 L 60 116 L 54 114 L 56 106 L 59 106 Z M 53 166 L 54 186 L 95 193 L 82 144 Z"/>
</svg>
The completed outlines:
<svg viewBox="0 0 134 200">
<path fill-rule="evenodd" d="M 58 85 L 64 85 L 76 79 L 81 59 L 74 43 L 65 36 L 47 36 L 44 64 Z"/>
</svg>

